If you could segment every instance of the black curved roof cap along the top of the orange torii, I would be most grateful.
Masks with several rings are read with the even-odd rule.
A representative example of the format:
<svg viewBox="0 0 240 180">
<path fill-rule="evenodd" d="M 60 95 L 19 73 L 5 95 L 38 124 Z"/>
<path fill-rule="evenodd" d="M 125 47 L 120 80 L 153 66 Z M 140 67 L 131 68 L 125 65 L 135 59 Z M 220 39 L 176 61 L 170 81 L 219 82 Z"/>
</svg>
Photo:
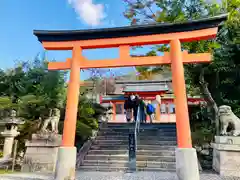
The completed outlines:
<svg viewBox="0 0 240 180">
<path fill-rule="evenodd" d="M 33 33 L 38 37 L 40 42 L 91 40 L 201 30 L 218 27 L 226 19 L 227 14 L 222 14 L 210 18 L 180 23 L 157 23 L 87 30 L 34 30 Z"/>
</svg>

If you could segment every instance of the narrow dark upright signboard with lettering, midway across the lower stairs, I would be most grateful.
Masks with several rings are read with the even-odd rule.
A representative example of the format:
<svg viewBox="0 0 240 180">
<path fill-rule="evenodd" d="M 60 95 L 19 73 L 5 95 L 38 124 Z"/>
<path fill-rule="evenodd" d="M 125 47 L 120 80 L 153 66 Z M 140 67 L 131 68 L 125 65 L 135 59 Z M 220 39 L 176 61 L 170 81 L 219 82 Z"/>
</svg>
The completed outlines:
<svg viewBox="0 0 240 180">
<path fill-rule="evenodd" d="M 136 141 L 133 132 L 129 133 L 128 142 L 129 169 L 136 171 Z"/>
</svg>

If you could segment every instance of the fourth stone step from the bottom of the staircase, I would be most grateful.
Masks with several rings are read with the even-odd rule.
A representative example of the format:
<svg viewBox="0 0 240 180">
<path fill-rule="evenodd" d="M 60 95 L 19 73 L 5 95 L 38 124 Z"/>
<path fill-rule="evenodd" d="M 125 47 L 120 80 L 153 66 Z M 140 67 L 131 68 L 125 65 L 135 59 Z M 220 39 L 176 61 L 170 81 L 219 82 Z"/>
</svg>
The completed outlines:
<svg viewBox="0 0 240 180">
<path fill-rule="evenodd" d="M 88 154 L 95 155 L 119 155 L 128 154 L 128 150 L 89 150 Z M 153 156 L 175 156 L 175 151 L 170 150 L 138 150 L 137 155 L 153 155 Z"/>
</svg>

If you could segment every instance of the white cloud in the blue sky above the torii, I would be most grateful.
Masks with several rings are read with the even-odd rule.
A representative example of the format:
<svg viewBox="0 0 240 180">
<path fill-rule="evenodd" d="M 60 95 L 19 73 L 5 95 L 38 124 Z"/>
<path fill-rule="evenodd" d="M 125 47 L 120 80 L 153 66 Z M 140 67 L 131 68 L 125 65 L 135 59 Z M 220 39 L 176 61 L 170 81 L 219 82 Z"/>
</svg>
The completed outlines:
<svg viewBox="0 0 240 180">
<path fill-rule="evenodd" d="M 98 26 L 106 18 L 103 4 L 94 4 L 93 0 L 68 0 L 82 21 L 90 26 Z"/>
</svg>

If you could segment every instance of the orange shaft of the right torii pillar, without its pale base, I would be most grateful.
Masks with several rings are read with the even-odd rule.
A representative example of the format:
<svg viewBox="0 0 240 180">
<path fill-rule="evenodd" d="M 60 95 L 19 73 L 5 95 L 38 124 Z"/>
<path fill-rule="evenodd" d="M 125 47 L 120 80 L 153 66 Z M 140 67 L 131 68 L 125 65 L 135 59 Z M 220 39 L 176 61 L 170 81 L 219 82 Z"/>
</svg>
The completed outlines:
<svg viewBox="0 0 240 180">
<path fill-rule="evenodd" d="M 171 69 L 175 95 L 178 147 L 192 148 L 181 43 L 178 39 L 170 42 L 170 56 L 172 60 Z"/>
</svg>

